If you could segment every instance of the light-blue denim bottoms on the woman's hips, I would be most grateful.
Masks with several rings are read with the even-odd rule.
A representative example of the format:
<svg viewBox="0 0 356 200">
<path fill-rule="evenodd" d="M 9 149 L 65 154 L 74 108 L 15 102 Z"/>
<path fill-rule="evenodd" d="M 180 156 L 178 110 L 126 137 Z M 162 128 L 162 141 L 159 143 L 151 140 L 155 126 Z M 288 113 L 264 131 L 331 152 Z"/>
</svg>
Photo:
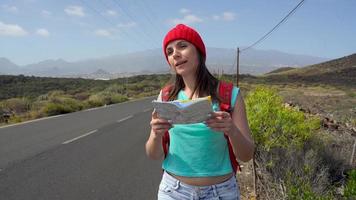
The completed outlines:
<svg viewBox="0 0 356 200">
<path fill-rule="evenodd" d="M 167 172 L 158 189 L 158 200 L 239 200 L 240 192 L 235 176 L 229 180 L 209 186 L 194 186 L 182 183 Z"/>
</svg>

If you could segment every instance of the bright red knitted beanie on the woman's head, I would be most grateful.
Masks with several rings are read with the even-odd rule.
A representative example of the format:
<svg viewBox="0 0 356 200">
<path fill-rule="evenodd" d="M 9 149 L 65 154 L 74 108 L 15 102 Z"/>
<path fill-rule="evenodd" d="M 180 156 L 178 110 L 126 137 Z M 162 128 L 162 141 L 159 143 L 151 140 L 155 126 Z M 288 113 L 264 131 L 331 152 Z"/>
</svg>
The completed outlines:
<svg viewBox="0 0 356 200">
<path fill-rule="evenodd" d="M 206 58 L 205 45 L 199 33 L 189 26 L 186 26 L 184 24 L 178 24 L 176 27 L 174 27 L 167 33 L 166 37 L 163 40 L 163 52 L 166 56 L 167 61 L 167 45 L 170 42 L 178 39 L 186 40 L 192 43 L 200 51 L 204 59 Z"/>
</svg>

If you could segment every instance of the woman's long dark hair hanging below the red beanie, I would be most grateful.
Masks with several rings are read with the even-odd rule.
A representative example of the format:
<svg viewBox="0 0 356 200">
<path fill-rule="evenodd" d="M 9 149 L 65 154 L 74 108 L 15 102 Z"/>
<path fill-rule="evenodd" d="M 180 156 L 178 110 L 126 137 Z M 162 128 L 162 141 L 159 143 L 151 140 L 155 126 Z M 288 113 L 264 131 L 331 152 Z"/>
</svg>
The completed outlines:
<svg viewBox="0 0 356 200">
<path fill-rule="evenodd" d="M 218 96 L 218 85 L 219 80 L 215 78 L 208 70 L 205 65 L 205 58 L 202 56 L 200 51 L 197 49 L 198 58 L 199 58 L 199 66 L 196 71 L 196 84 L 193 93 L 189 97 L 197 93 L 198 97 L 208 96 L 210 95 L 213 101 L 220 102 L 220 98 Z M 178 97 L 179 91 L 181 91 L 184 87 L 184 81 L 181 75 L 173 74 L 171 80 L 168 82 L 168 87 L 172 87 L 169 94 L 169 101 L 176 100 Z"/>
</svg>

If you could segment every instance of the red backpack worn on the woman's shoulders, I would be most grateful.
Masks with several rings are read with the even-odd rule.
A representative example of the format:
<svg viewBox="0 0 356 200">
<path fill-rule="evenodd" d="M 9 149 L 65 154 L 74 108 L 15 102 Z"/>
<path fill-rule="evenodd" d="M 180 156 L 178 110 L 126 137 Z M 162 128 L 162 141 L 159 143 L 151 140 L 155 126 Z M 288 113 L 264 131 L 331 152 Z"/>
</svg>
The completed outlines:
<svg viewBox="0 0 356 200">
<path fill-rule="evenodd" d="M 225 111 L 231 114 L 231 95 L 232 95 L 232 89 L 233 89 L 233 84 L 232 83 L 227 83 L 220 81 L 219 82 L 219 96 L 221 98 L 221 102 L 219 104 L 220 110 Z M 169 99 L 169 94 L 170 91 L 172 90 L 173 85 L 168 85 L 165 86 L 162 89 L 162 101 L 168 101 Z M 234 151 L 232 149 L 231 142 L 229 140 L 229 137 L 224 135 L 225 139 L 227 140 L 228 147 L 229 147 L 229 157 L 230 157 L 230 162 L 232 169 L 236 173 L 237 171 L 241 171 L 240 165 L 237 162 L 237 159 L 235 157 Z M 162 147 L 163 147 L 163 152 L 164 152 L 164 157 L 167 156 L 168 149 L 169 149 L 169 133 L 166 131 L 163 135 L 162 138 Z"/>
</svg>

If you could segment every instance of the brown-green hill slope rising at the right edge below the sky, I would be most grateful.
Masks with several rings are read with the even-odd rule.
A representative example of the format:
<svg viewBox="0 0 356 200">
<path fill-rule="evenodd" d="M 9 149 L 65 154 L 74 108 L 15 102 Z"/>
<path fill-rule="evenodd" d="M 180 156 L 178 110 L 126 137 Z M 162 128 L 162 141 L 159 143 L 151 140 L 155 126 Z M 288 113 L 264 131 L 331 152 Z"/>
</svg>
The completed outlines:
<svg viewBox="0 0 356 200">
<path fill-rule="evenodd" d="M 288 81 L 355 86 L 356 54 L 303 68 L 268 73 L 264 78 L 272 82 Z"/>
</svg>

